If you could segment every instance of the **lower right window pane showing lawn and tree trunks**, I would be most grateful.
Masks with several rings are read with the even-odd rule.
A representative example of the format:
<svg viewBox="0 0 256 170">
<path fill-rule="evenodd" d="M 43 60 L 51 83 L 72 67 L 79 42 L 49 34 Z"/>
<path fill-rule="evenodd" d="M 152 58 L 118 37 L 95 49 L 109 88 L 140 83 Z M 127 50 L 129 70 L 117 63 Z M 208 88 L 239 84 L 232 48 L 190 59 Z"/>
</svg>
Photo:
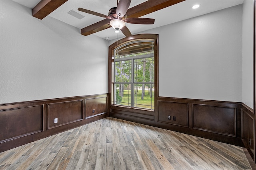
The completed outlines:
<svg viewBox="0 0 256 170">
<path fill-rule="evenodd" d="M 154 84 L 134 84 L 134 107 L 154 109 Z"/>
</svg>

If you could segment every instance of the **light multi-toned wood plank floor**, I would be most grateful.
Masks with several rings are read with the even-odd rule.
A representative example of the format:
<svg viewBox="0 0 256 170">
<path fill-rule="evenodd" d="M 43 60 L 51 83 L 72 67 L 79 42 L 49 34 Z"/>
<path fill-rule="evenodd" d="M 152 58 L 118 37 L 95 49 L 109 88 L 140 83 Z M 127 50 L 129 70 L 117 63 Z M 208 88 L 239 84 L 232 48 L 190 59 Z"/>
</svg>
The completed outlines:
<svg viewBox="0 0 256 170">
<path fill-rule="evenodd" d="M 241 147 L 111 117 L 0 154 L 1 170 L 245 170 Z"/>
</svg>

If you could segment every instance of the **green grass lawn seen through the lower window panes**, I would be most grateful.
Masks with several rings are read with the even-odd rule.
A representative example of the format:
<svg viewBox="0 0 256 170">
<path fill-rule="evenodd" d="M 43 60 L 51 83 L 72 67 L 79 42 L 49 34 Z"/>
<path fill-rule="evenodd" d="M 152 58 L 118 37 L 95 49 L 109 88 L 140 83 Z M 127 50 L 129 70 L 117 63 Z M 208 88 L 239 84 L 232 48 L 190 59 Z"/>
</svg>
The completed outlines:
<svg viewBox="0 0 256 170">
<path fill-rule="evenodd" d="M 122 102 L 120 104 L 124 106 L 128 106 L 128 103 L 131 101 L 131 96 L 130 96 L 131 91 L 130 90 L 124 90 L 124 96 L 122 97 Z M 153 98 L 150 98 L 150 94 L 148 94 L 148 90 L 145 90 L 145 96 L 144 99 L 141 99 L 141 94 L 142 90 L 138 90 L 136 95 L 136 99 L 134 101 L 134 107 L 142 107 L 142 108 L 147 108 L 151 109 L 151 100 L 152 100 L 152 109 L 154 109 L 154 92 L 152 94 Z M 136 105 L 137 104 L 137 105 Z M 144 106 L 147 105 L 147 106 Z"/>
</svg>

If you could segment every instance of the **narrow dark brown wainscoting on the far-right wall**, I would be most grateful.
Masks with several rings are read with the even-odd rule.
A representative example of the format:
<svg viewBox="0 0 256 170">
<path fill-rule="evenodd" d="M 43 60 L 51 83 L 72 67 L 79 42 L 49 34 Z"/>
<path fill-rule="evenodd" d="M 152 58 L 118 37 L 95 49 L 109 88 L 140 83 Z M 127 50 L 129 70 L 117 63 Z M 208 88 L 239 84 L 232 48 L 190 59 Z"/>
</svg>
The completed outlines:
<svg viewBox="0 0 256 170">
<path fill-rule="evenodd" d="M 242 141 L 255 162 L 255 115 L 253 109 L 242 104 Z"/>
</svg>

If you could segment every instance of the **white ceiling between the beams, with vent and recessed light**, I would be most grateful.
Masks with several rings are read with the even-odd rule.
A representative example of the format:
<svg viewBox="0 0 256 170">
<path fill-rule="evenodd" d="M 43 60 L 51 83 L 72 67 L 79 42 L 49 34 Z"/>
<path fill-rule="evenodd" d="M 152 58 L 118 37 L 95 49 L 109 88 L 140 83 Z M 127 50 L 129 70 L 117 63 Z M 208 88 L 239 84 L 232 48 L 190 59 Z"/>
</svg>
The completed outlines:
<svg viewBox="0 0 256 170">
<path fill-rule="evenodd" d="M 32 9 L 41 0 L 14 1 Z M 146 0 L 132 0 L 129 8 L 141 4 L 145 1 Z M 132 34 L 136 34 L 138 32 L 145 31 L 148 29 L 168 25 L 170 23 L 186 20 L 188 18 L 193 18 L 196 16 L 200 16 L 231 6 L 236 6 L 238 4 L 242 4 L 243 1 L 244 0 L 186 0 L 173 6 L 143 16 L 144 18 L 154 18 L 155 23 L 153 25 L 139 25 L 126 23 L 126 26 L 129 28 Z M 192 6 L 194 4 L 201 4 L 201 6 L 200 8 L 193 10 Z M 81 29 L 98 21 L 104 20 L 105 18 L 94 16 L 91 14 L 86 14 L 84 12 L 78 11 L 78 8 L 85 8 L 87 10 L 108 15 L 108 11 L 112 7 L 116 7 L 116 0 L 68 0 L 48 16 Z M 70 10 L 74 10 L 75 12 L 78 12 L 79 14 L 85 17 L 79 20 L 74 16 L 68 14 Z M 114 29 L 112 28 L 108 28 L 103 31 L 94 33 L 94 35 L 97 35 L 98 37 L 102 37 L 104 39 L 106 37 L 109 37 L 109 40 L 116 38 L 116 33 L 114 33 Z M 118 33 L 118 37 L 124 37 L 122 32 Z"/>
</svg>

